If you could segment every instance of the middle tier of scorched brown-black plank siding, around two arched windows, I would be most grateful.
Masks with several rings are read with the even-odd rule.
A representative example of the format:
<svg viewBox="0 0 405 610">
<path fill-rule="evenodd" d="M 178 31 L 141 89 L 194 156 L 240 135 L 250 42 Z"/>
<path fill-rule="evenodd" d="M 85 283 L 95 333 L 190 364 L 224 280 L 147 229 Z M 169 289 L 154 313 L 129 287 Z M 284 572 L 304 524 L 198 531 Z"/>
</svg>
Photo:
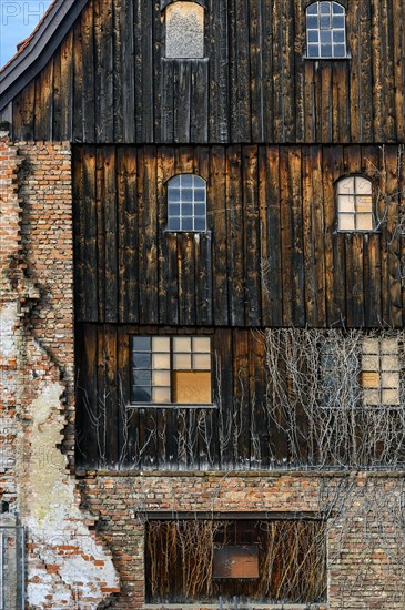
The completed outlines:
<svg viewBox="0 0 405 610">
<path fill-rule="evenodd" d="M 398 153 L 394 145 L 75 146 L 77 321 L 402 327 Z M 166 181 L 190 172 L 207 182 L 209 231 L 169 233 Z M 337 232 L 335 182 L 353 173 L 372 174 L 374 232 Z"/>
</svg>

